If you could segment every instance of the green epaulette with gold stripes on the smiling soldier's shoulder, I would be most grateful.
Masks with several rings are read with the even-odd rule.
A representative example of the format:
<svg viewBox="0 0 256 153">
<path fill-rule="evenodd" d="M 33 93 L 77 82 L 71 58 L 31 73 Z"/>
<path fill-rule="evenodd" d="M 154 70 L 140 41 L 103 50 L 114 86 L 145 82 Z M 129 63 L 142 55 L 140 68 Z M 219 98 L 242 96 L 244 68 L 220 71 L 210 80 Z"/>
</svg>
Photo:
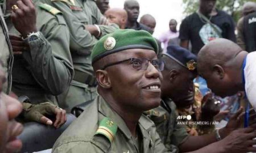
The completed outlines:
<svg viewBox="0 0 256 153">
<path fill-rule="evenodd" d="M 96 134 L 104 135 L 109 139 L 110 142 L 113 141 L 115 133 L 117 133 L 117 124 L 115 124 L 110 118 L 105 117 L 100 121 L 100 125 L 96 131 Z"/>
</svg>

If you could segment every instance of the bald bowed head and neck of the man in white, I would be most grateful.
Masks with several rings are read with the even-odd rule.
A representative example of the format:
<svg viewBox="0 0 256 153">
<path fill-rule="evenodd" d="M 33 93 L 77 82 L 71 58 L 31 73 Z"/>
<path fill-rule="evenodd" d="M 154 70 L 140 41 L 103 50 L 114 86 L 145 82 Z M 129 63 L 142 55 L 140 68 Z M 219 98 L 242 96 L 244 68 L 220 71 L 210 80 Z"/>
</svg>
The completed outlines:
<svg viewBox="0 0 256 153">
<path fill-rule="evenodd" d="M 248 53 L 226 39 L 210 41 L 198 54 L 197 70 L 216 95 L 225 97 L 244 91 L 242 63 Z"/>
</svg>

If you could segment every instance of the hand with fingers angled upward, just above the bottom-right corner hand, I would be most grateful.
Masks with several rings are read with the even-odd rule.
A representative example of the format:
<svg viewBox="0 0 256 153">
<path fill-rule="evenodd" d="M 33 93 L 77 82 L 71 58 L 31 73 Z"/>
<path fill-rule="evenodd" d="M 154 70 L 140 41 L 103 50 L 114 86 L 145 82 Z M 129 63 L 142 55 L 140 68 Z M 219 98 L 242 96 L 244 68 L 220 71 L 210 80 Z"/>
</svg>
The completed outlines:
<svg viewBox="0 0 256 153">
<path fill-rule="evenodd" d="M 241 127 L 241 123 L 243 121 L 243 108 L 238 109 L 236 114 L 230 117 L 228 124 L 226 124 L 225 128 L 220 129 L 221 138 L 225 138 L 229 135 L 233 130 L 236 130 Z"/>
</svg>

